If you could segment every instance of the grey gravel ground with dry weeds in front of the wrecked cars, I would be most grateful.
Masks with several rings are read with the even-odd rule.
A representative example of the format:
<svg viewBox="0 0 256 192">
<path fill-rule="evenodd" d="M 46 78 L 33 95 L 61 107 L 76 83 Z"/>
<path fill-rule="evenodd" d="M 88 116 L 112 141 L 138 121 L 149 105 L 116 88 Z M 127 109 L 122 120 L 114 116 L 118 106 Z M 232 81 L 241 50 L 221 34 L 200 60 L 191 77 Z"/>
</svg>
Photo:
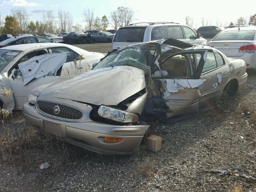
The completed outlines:
<svg viewBox="0 0 256 192">
<path fill-rule="evenodd" d="M 255 84 L 256 73 L 250 72 L 244 90 L 218 107 L 175 124 L 154 123 L 162 150 L 150 152 L 142 145 L 131 156 L 62 143 L 34 131 L 22 112 L 14 112 L 0 128 L 0 192 L 229 192 L 235 186 L 256 192 L 256 181 L 205 172 L 256 177 Z M 10 142 L 2 140 L 8 130 Z M 1 153 L 6 148 L 12 153 Z M 40 170 L 45 162 L 50 168 Z"/>
</svg>

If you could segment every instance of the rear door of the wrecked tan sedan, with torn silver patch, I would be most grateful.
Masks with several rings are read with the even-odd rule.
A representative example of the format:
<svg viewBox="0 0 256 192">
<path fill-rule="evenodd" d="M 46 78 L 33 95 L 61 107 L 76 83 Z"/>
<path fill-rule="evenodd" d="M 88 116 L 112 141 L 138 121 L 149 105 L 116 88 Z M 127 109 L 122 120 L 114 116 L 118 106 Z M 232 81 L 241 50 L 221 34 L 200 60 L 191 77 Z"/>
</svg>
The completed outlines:
<svg viewBox="0 0 256 192">
<path fill-rule="evenodd" d="M 200 90 L 200 110 L 214 106 L 218 102 L 228 82 L 229 73 L 229 67 L 225 64 L 222 56 L 217 51 L 209 50 L 201 74 L 201 78 L 206 81 Z"/>
</svg>

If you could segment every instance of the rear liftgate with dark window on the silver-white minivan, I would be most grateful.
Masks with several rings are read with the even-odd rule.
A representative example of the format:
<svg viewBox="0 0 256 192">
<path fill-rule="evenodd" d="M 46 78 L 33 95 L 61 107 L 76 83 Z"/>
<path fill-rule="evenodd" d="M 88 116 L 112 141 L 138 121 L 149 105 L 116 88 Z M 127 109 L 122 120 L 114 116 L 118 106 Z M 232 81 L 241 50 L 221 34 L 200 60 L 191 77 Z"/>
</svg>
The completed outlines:
<svg viewBox="0 0 256 192">
<path fill-rule="evenodd" d="M 116 32 L 116 35 L 112 43 L 112 50 L 121 48 L 123 46 L 144 42 L 145 30 L 146 26 L 132 26 L 119 28 Z"/>
</svg>

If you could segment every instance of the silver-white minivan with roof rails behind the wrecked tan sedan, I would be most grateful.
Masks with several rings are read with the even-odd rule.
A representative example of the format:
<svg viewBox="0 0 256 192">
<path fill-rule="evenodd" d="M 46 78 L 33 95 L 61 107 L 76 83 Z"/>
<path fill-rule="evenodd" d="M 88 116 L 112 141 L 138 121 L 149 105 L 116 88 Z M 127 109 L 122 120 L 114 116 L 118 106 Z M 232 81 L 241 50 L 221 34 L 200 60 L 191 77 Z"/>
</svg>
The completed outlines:
<svg viewBox="0 0 256 192">
<path fill-rule="evenodd" d="M 164 38 L 174 38 L 190 44 L 206 45 L 207 40 L 192 28 L 174 22 L 134 23 L 120 27 L 112 43 L 112 50 L 123 46 Z"/>
</svg>

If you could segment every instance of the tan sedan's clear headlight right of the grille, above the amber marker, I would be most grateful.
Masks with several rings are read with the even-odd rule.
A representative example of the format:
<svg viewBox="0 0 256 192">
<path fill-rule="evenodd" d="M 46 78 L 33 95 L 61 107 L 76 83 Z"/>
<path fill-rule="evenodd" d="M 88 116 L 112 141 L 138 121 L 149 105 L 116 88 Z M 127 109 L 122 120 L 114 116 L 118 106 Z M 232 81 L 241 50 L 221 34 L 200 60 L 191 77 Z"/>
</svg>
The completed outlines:
<svg viewBox="0 0 256 192">
<path fill-rule="evenodd" d="M 104 118 L 123 123 L 137 122 L 139 119 L 136 114 L 103 105 L 100 106 L 98 114 Z"/>
</svg>

